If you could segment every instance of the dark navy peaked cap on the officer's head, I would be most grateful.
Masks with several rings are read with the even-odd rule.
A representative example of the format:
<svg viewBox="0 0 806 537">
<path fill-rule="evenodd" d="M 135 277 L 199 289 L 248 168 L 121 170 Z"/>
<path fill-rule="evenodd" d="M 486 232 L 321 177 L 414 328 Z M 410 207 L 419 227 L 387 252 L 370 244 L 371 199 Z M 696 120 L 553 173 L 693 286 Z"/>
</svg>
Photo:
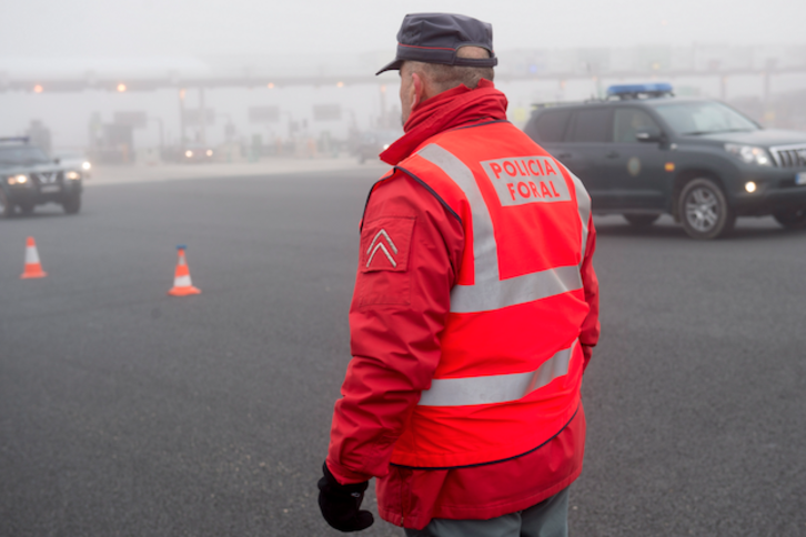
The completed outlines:
<svg viewBox="0 0 806 537">
<path fill-rule="evenodd" d="M 461 47 L 487 49 L 490 58 L 457 58 Z M 406 60 L 445 65 L 497 65 L 493 26 L 463 14 L 410 13 L 403 18 L 397 32 L 397 55 L 375 74 L 400 70 Z"/>
</svg>

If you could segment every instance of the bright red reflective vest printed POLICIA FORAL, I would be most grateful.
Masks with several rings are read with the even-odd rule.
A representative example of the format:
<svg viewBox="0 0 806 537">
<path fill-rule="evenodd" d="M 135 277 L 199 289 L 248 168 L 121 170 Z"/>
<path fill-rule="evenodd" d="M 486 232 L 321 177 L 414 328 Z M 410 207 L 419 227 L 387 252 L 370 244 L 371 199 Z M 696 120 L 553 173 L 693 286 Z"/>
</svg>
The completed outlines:
<svg viewBox="0 0 806 537">
<path fill-rule="evenodd" d="M 590 196 L 508 122 L 440 133 L 396 168 L 461 220 L 465 247 L 440 365 L 391 462 L 455 468 L 536 449 L 580 408 Z"/>
</svg>

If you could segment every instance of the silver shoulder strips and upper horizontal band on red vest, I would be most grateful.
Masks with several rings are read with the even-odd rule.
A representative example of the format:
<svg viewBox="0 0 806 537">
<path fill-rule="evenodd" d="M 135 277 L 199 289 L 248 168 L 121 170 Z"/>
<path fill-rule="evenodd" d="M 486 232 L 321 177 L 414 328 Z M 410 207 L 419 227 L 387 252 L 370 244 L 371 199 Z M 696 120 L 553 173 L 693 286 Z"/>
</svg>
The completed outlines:
<svg viewBox="0 0 806 537">
<path fill-rule="evenodd" d="M 473 216 L 473 259 L 475 267 L 474 285 L 454 285 L 451 290 L 451 312 L 475 313 L 500 310 L 516 304 L 555 296 L 568 291 L 582 288 L 580 267 L 560 266 L 547 271 L 524 274 L 523 276 L 501 280 L 498 275 L 498 247 L 495 243 L 493 220 L 490 216 L 484 197 L 473 172 L 447 150 L 431 144 L 419 153 L 421 158 L 431 162 L 450 176 L 462 189 L 470 203 Z M 573 175 L 572 175 L 573 176 Z M 590 214 L 590 200 L 584 192 L 582 183 L 574 178 L 574 188 L 577 192 L 580 217 L 582 219 L 583 200 Z M 587 240 L 587 219 L 583 222 L 583 253 Z"/>
</svg>

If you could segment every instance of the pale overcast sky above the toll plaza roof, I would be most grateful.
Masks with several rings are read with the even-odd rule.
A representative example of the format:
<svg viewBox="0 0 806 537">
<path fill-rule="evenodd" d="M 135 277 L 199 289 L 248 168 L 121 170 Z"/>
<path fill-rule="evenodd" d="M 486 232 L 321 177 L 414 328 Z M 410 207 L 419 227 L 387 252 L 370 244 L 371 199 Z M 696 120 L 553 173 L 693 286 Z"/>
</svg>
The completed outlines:
<svg viewBox="0 0 806 537">
<path fill-rule="evenodd" d="M 0 0 L 0 55 L 393 51 L 423 11 L 492 22 L 497 50 L 806 43 L 804 0 Z"/>
</svg>

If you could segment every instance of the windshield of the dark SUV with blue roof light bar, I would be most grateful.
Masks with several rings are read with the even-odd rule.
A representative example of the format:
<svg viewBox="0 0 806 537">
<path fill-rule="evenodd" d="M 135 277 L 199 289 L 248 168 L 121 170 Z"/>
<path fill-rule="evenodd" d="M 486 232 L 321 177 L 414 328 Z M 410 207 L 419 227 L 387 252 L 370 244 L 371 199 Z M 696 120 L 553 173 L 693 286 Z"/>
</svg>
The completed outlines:
<svg viewBox="0 0 806 537">
<path fill-rule="evenodd" d="M 721 102 L 676 102 L 658 104 L 655 110 L 677 134 L 696 135 L 759 129 L 753 121 Z"/>
</svg>

